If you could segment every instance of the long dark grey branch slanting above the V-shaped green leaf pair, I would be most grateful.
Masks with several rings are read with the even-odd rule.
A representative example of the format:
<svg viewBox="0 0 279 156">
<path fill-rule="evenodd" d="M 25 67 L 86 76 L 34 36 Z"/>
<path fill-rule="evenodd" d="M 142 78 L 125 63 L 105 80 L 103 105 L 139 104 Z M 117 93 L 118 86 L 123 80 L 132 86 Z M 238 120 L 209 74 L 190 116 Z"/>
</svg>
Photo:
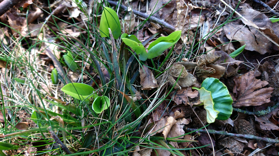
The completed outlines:
<svg viewBox="0 0 279 156">
<path fill-rule="evenodd" d="M 109 4 L 111 4 L 111 5 L 115 5 L 115 6 L 118 5 L 118 3 L 117 3 L 117 2 L 114 2 L 114 1 L 108 0 L 107 2 L 108 2 Z M 127 10 L 127 7 L 126 7 L 126 6 L 122 5 L 121 3 L 120 3 L 119 5 L 120 5 L 120 7 L 121 7 L 122 9 Z M 166 27 L 166 28 L 168 28 L 168 29 L 170 29 L 170 30 L 172 30 L 172 31 L 175 31 L 174 26 L 170 25 L 169 23 L 167 23 L 167 22 L 165 22 L 165 21 L 163 21 L 163 20 L 160 20 L 159 18 L 156 18 L 156 17 L 154 17 L 154 16 L 150 16 L 150 17 L 149 17 L 149 15 L 144 14 L 144 13 L 139 12 L 139 11 L 136 11 L 136 10 L 133 10 L 133 12 L 134 12 L 134 14 L 137 14 L 137 15 L 143 17 L 143 18 L 146 18 L 146 19 L 148 18 L 148 20 L 151 21 L 151 22 L 158 23 L 158 24 L 160 24 L 160 25 L 162 25 L 162 26 L 164 26 L 164 27 Z"/>
</svg>

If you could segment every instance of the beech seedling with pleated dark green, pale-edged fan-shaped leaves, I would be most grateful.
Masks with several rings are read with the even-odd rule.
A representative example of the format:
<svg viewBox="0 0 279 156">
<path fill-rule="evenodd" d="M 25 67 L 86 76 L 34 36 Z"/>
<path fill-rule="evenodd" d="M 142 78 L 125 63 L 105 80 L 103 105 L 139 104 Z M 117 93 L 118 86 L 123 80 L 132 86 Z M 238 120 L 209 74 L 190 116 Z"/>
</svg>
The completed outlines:
<svg viewBox="0 0 279 156">
<path fill-rule="evenodd" d="M 200 101 L 206 110 L 206 120 L 213 123 L 217 120 L 227 120 L 232 114 L 232 97 L 228 88 L 219 79 L 206 78 L 201 88 L 192 87 L 200 93 Z"/>
</svg>

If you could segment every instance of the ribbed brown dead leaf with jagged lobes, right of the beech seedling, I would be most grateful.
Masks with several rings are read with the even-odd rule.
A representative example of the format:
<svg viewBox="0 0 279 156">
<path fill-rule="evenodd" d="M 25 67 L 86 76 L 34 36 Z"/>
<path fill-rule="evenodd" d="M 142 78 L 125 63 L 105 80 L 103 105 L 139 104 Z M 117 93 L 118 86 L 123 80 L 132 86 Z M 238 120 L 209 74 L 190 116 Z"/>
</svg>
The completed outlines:
<svg viewBox="0 0 279 156">
<path fill-rule="evenodd" d="M 236 93 L 237 101 L 233 106 L 258 106 L 270 102 L 273 88 L 262 88 L 268 82 L 256 79 L 254 71 L 250 71 L 234 79 L 234 81 L 235 86 L 233 92 Z"/>
</svg>

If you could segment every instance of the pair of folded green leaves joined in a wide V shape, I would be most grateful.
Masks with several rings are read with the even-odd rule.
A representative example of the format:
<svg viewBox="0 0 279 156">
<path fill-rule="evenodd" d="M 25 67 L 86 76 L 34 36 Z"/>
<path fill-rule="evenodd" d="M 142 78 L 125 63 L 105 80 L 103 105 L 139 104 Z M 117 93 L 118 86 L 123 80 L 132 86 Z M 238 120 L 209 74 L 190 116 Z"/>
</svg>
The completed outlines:
<svg viewBox="0 0 279 156">
<path fill-rule="evenodd" d="M 140 60 L 146 61 L 147 58 L 152 59 L 161 55 L 165 50 L 173 46 L 179 40 L 180 36 L 181 30 L 174 31 L 166 37 L 159 37 L 149 45 L 147 49 L 148 53 L 142 45 L 142 42 L 140 42 L 135 35 L 122 34 L 121 39 L 126 45 L 131 47 L 138 55 L 140 55 Z"/>
</svg>

